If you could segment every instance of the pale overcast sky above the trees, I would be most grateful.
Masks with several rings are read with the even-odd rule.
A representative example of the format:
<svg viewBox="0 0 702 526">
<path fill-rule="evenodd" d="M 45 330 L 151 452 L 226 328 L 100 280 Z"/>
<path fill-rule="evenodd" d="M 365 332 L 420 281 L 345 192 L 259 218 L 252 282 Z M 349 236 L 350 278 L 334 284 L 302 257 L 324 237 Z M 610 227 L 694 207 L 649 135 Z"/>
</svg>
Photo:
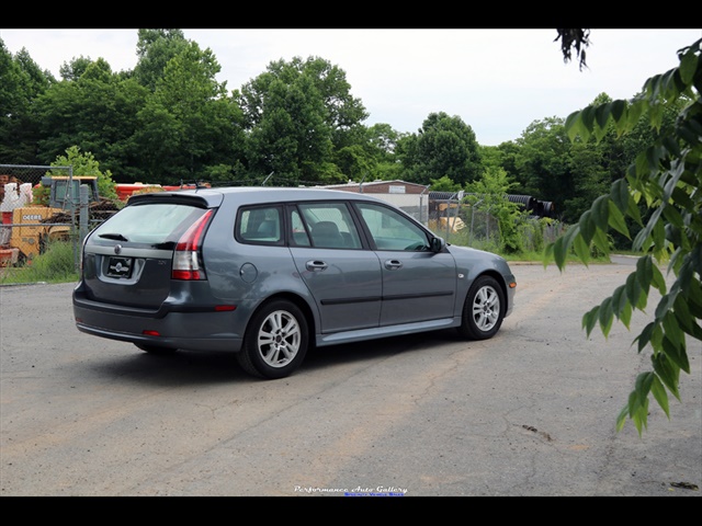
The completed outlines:
<svg viewBox="0 0 702 526">
<path fill-rule="evenodd" d="M 566 118 L 600 93 L 630 99 L 644 82 L 678 66 L 676 52 L 702 38 L 702 28 L 593 28 L 588 68 L 564 62 L 556 30 L 517 28 L 182 28 L 210 48 L 219 82 L 240 89 L 275 60 L 319 57 L 346 72 L 351 95 L 370 114 L 366 126 L 389 124 L 417 133 L 444 112 L 471 126 L 478 144 L 497 146 L 530 124 Z M 0 28 L 11 54 L 26 48 L 60 79 L 73 58 L 103 58 L 113 71 L 136 66 L 137 30 Z"/>
</svg>

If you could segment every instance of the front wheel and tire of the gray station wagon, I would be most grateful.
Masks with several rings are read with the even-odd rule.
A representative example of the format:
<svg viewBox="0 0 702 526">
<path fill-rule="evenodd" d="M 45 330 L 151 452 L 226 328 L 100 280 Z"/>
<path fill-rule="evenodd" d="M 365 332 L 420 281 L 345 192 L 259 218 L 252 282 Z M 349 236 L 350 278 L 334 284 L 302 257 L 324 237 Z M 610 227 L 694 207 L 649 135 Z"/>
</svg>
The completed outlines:
<svg viewBox="0 0 702 526">
<path fill-rule="evenodd" d="M 458 333 L 471 340 L 488 340 L 497 334 L 505 319 L 505 293 L 491 276 L 479 276 L 465 298 Z"/>
</svg>

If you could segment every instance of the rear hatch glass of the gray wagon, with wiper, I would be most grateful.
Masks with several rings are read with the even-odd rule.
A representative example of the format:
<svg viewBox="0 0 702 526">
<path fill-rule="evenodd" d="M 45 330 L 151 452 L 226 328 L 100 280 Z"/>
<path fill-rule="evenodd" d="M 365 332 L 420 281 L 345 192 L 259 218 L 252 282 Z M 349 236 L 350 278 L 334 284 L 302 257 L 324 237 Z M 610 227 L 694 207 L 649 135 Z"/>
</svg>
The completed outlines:
<svg viewBox="0 0 702 526">
<path fill-rule="evenodd" d="M 95 229 L 92 239 L 162 245 L 176 243 L 206 208 L 174 203 L 127 206 Z"/>
</svg>

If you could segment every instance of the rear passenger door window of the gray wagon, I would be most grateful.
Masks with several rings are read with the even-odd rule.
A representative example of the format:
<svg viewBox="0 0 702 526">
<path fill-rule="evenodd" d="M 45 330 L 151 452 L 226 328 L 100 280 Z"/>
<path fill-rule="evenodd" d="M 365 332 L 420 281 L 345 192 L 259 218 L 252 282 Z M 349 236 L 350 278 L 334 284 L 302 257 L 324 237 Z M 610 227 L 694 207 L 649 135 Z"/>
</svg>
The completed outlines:
<svg viewBox="0 0 702 526">
<path fill-rule="evenodd" d="M 344 203 L 301 203 L 312 245 L 321 249 L 360 249 L 361 238 Z"/>
</svg>

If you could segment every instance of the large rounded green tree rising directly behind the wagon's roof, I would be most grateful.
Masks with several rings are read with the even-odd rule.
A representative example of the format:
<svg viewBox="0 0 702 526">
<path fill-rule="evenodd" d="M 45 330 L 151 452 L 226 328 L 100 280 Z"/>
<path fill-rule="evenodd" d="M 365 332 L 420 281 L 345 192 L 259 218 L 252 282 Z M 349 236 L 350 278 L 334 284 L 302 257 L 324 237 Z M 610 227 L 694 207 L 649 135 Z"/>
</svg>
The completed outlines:
<svg viewBox="0 0 702 526">
<path fill-rule="evenodd" d="M 338 183 L 372 168 L 363 148 L 354 147 L 366 137 L 365 108 L 351 96 L 346 73 L 327 60 L 271 62 L 235 98 L 249 134 L 251 176 L 274 172 L 278 184 Z"/>
</svg>

